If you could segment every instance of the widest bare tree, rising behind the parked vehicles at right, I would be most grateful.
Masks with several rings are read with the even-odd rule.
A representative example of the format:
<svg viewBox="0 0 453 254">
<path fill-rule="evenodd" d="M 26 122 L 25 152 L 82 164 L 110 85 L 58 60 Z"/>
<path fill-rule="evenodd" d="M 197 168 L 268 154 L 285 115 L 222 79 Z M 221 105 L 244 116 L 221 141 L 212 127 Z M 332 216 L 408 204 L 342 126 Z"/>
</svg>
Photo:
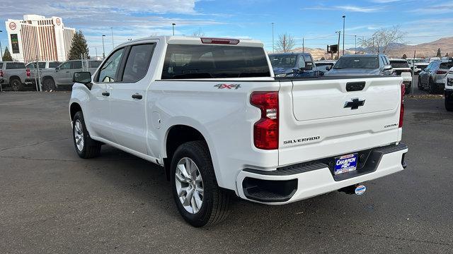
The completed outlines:
<svg viewBox="0 0 453 254">
<path fill-rule="evenodd" d="M 386 54 L 389 53 L 389 46 L 392 43 L 402 42 L 405 35 L 406 33 L 402 32 L 399 26 L 381 28 L 369 39 L 360 40 L 360 46 L 369 49 L 373 54 Z"/>
</svg>

